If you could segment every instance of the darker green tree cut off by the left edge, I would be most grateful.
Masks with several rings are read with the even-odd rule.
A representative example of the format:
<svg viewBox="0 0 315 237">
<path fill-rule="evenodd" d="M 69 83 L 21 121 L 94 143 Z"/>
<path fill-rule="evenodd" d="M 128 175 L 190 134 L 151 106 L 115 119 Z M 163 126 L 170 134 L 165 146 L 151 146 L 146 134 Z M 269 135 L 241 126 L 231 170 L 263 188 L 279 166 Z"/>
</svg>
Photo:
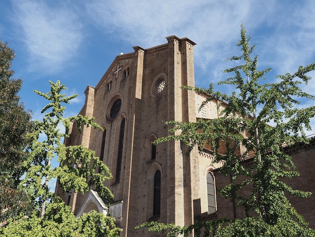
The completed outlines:
<svg viewBox="0 0 315 237">
<path fill-rule="evenodd" d="M 32 209 L 25 193 L 18 191 L 26 159 L 26 134 L 31 130 L 31 113 L 20 103 L 22 79 L 12 79 L 14 51 L 0 40 L 0 222 Z M 23 205 L 20 205 L 23 203 Z"/>
</svg>

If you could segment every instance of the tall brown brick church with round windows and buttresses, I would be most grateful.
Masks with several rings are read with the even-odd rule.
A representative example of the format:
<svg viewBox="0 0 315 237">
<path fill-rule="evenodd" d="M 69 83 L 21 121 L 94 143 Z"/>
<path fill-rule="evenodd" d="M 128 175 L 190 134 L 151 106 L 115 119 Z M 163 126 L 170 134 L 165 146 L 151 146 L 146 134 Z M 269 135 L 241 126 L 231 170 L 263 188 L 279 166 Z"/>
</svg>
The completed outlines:
<svg viewBox="0 0 315 237">
<path fill-rule="evenodd" d="M 104 131 L 72 128 L 65 145 L 84 145 L 109 166 L 114 194 L 107 207 L 98 193 L 56 194 L 76 216 L 97 210 L 116 218 L 120 236 L 155 236 L 135 226 L 146 221 L 189 225 L 217 215 L 215 176 L 210 151 L 195 148 L 186 155 L 180 141 L 153 145 L 169 135 L 167 121 L 196 122 L 217 118 L 215 101 L 198 110 L 206 95 L 182 89 L 195 86 L 193 49 L 188 38 L 167 37 L 167 43 L 116 56 L 99 83 L 88 86 L 80 114 L 94 116 Z M 226 204 L 230 205 L 230 204 Z M 223 210 L 223 209 L 222 209 Z M 232 210 L 232 209 L 230 209 Z M 302 213 L 301 213 L 302 214 Z"/>
</svg>

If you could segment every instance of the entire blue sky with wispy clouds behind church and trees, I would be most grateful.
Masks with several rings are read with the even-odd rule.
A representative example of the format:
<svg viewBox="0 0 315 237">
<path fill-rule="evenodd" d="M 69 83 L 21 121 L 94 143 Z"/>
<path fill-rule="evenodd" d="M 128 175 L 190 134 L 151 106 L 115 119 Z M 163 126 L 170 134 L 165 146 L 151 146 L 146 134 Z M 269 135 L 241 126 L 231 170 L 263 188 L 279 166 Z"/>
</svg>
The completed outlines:
<svg viewBox="0 0 315 237">
<path fill-rule="evenodd" d="M 46 101 L 33 89 L 46 93 L 48 80 L 60 80 L 68 95 L 80 94 L 66 110 L 77 114 L 87 85 L 97 85 L 116 55 L 166 43 L 170 35 L 197 43 L 195 81 L 208 88 L 227 77 L 221 72 L 230 66 L 225 58 L 240 54 L 242 22 L 257 44 L 259 68 L 272 68 L 268 82 L 315 62 L 312 0 L 2 1 L 0 38 L 15 50 L 15 78 L 24 82 L 21 101 L 39 119 Z M 314 81 L 303 90 L 315 95 Z"/>
</svg>

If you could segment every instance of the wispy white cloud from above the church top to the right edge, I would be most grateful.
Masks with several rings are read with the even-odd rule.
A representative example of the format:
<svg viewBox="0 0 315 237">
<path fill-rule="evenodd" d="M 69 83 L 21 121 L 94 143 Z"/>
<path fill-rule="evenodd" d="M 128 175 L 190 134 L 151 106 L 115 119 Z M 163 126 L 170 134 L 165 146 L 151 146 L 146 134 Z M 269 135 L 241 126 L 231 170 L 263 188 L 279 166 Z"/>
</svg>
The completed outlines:
<svg viewBox="0 0 315 237">
<path fill-rule="evenodd" d="M 92 0 L 87 3 L 87 10 L 101 29 L 143 47 L 165 43 L 164 37 L 173 34 L 192 39 L 197 43 L 195 65 L 209 76 L 205 86 L 209 79 L 216 82 L 224 77 L 221 71 L 226 68 L 226 57 L 239 54 L 235 44 L 242 22 L 254 36 L 253 42 L 261 43 L 258 47 L 261 64 L 272 65 L 278 69 L 276 72 L 290 72 L 297 62 L 307 62 L 307 51 L 311 56 L 314 53 L 311 45 L 315 17 L 308 17 L 315 16 L 311 1 L 283 5 L 274 0 L 242 1 L 242 4 L 206 0 L 195 4 L 186 0 L 153 3 L 125 0 L 109 4 Z M 296 32 L 293 35 L 291 27 Z M 264 29 L 269 31 L 268 35 L 261 35 Z M 260 35 L 256 34 L 258 31 Z"/>
</svg>

